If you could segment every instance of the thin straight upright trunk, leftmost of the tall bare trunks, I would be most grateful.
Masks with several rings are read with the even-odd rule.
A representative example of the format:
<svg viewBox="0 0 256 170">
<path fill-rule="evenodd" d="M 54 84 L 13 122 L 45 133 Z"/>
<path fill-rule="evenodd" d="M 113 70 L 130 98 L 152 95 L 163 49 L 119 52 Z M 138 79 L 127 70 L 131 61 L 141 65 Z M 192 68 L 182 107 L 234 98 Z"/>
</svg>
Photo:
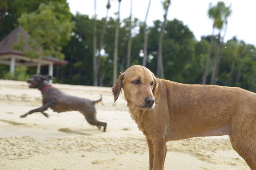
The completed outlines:
<svg viewBox="0 0 256 170">
<path fill-rule="evenodd" d="M 96 0 L 94 0 L 94 19 L 93 19 L 93 85 L 98 86 L 98 77 L 96 75 L 97 60 L 96 60 Z M 100 56 L 98 56 L 100 57 Z"/>
</svg>

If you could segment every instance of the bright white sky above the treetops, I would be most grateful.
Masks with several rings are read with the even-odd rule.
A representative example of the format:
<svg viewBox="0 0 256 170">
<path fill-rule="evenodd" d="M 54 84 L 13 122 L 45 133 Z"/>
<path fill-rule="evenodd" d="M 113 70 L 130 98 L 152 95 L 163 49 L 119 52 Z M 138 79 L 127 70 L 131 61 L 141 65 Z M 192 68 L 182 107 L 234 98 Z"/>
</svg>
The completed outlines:
<svg viewBox="0 0 256 170">
<path fill-rule="evenodd" d="M 227 34 L 225 41 L 237 36 L 246 43 L 256 45 L 256 1 L 255 0 L 223 0 L 226 6 L 232 2 L 232 14 L 228 19 Z M 76 14 L 94 14 L 94 0 L 67 0 L 70 11 Z M 98 18 L 105 17 L 107 0 L 97 0 L 96 13 Z M 163 20 L 162 0 L 151 0 L 147 24 L 153 25 L 154 20 Z M 171 6 L 167 19 L 177 18 L 194 33 L 197 40 L 202 35 L 212 34 L 212 20 L 207 16 L 209 3 L 216 4 L 218 0 L 171 0 Z M 124 19 L 130 15 L 131 0 L 122 0 L 120 6 L 120 17 Z M 133 17 L 141 21 L 145 20 L 148 0 L 133 0 Z M 109 16 L 115 18 L 118 10 L 118 0 L 111 0 Z M 217 31 L 215 31 L 217 33 Z"/>
</svg>

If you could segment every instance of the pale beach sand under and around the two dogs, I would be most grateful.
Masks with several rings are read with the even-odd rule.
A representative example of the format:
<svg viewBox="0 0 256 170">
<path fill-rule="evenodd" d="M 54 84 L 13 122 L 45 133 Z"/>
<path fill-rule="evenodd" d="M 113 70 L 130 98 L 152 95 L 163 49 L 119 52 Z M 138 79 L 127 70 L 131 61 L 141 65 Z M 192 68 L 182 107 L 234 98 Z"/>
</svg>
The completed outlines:
<svg viewBox="0 0 256 170">
<path fill-rule="evenodd" d="M 49 118 L 21 114 L 41 106 L 41 92 L 26 82 L 0 80 L 0 170 L 148 170 L 148 147 L 121 95 L 111 88 L 54 84 L 67 94 L 103 101 L 97 118 L 105 133 L 76 111 Z M 250 170 L 227 136 L 168 142 L 166 170 Z"/>
</svg>

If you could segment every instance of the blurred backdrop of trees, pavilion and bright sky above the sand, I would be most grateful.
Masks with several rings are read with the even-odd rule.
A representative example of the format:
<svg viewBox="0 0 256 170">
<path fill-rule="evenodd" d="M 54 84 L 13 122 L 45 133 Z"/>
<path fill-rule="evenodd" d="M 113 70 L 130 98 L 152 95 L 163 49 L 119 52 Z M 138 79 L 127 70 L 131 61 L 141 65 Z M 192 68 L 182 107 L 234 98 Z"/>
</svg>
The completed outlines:
<svg viewBox="0 0 256 170">
<path fill-rule="evenodd" d="M 111 86 L 157 77 L 255 91 L 251 0 L 0 0 L 0 79 Z"/>
</svg>

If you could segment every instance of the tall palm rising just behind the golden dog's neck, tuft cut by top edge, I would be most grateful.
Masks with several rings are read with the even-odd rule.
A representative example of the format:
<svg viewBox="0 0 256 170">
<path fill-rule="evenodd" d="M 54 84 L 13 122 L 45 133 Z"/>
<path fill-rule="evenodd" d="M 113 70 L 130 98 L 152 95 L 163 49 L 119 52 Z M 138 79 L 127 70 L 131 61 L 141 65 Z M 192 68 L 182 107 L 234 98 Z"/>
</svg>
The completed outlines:
<svg viewBox="0 0 256 170">
<path fill-rule="evenodd" d="M 162 41 L 163 41 L 163 33 L 166 27 L 166 17 L 168 14 L 168 9 L 171 4 L 171 0 L 164 0 L 163 1 L 163 8 L 165 10 L 165 14 L 163 15 L 164 21 L 162 30 L 160 33 L 159 41 L 158 41 L 158 55 L 157 55 L 157 77 L 160 76 L 163 79 L 163 54 L 162 54 Z"/>
</svg>

